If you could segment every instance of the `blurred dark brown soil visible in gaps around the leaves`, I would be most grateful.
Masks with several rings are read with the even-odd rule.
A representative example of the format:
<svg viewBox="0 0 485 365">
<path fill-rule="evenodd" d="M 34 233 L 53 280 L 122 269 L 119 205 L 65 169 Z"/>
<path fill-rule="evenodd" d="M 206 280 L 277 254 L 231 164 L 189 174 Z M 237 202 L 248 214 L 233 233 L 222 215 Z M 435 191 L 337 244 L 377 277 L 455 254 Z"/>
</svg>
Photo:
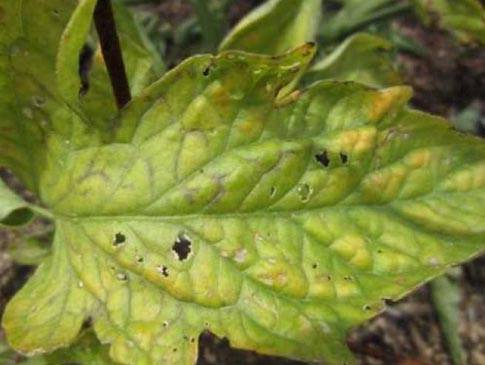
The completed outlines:
<svg viewBox="0 0 485 365">
<path fill-rule="evenodd" d="M 237 22 L 261 2 L 236 1 L 227 14 L 229 24 Z M 151 6 L 150 11 L 162 21 L 180 24 L 193 14 L 188 3 L 167 0 Z M 485 49 L 460 46 L 446 32 L 424 28 L 413 14 L 395 20 L 393 27 L 428 50 L 427 55 L 402 53 L 398 56 L 405 81 L 415 90 L 412 104 L 447 118 L 474 105 L 483 118 Z M 176 60 L 185 57 L 188 51 L 176 49 L 176 45 L 168 41 L 166 52 Z M 479 126 L 478 133 L 483 137 L 484 128 Z M 8 172 L 0 171 L 0 177 L 32 199 Z M 38 221 L 25 229 L 39 232 L 45 230 L 46 224 Z M 0 230 L 0 311 L 32 272 L 30 267 L 15 264 L 5 252 L 8 244 L 19 235 L 19 232 Z M 466 350 L 466 364 L 485 365 L 485 257 L 456 271 L 455 279 L 461 288 L 459 331 Z M 235 350 L 226 339 L 210 333 L 202 334 L 200 340 L 198 365 L 305 364 Z M 453 365 L 427 285 L 398 303 L 389 303 L 383 314 L 353 330 L 348 344 L 362 365 Z"/>
</svg>

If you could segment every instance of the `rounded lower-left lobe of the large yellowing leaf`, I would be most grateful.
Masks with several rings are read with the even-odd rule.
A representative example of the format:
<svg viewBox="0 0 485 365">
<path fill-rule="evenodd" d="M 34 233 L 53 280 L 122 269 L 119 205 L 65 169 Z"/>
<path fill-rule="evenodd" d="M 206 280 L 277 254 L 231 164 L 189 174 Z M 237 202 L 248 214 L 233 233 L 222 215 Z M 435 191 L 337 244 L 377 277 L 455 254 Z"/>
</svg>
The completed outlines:
<svg viewBox="0 0 485 365">
<path fill-rule="evenodd" d="M 12 299 L 3 316 L 9 344 L 32 356 L 69 346 L 94 307 L 71 268 L 70 253 L 56 232 L 53 253 Z"/>
</svg>

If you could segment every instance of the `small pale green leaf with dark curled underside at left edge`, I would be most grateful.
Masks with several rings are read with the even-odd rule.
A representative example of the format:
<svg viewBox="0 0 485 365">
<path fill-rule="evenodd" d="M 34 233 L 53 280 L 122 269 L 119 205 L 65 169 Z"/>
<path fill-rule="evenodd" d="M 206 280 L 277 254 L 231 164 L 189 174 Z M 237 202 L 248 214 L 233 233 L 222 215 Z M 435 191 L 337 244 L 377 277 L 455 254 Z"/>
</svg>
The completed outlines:
<svg viewBox="0 0 485 365">
<path fill-rule="evenodd" d="M 33 217 L 31 206 L 0 179 L 0 226 L 18 226 Z"/>
</svg>

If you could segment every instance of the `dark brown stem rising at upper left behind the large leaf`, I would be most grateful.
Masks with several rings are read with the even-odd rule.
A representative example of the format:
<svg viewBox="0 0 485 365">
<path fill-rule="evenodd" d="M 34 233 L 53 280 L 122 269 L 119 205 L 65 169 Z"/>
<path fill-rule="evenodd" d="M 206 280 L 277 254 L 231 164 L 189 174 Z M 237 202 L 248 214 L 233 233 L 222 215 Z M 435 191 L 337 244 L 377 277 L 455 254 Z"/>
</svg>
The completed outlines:
<svg viewBox="0 0 485 365">
<path fill-rule="evenodd" d="M 104 62 L 108 69 L 116 105 L 122 109 L 131 100 L 120 40 L 116 32 L 111 0 L 98 0 L 94 10 L 94 24 L 99 36 Z"/>
</svg>

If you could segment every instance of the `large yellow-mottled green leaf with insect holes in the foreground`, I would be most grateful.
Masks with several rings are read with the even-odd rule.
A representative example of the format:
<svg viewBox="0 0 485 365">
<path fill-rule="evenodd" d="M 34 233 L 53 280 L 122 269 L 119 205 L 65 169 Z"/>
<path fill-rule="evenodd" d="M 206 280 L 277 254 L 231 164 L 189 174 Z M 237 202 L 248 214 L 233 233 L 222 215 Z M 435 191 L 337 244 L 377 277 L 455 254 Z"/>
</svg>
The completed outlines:
<svg viewBox="0 0 485 365">
<path fill-rule="evenodd" d="M 21 18 L 10 4 L 12 27 L 44 3 Z M 383 299 L 483 252 L 484 142 L 407 109 L 406 87 L 332 81 L 282 96 L 312 56 L 190 58 L 106 130 L 48 85 L 53 127 L 33 181 L 55 216 L 53 253 L 7 306 L 9 343 L 65 347 L 89 318 L 122 364 L 192 364 L 204 330 L 341 364 L 346 333 Z M 34 83 L 6 59 L 10 77 Z M 28 94 L 12 85 L 2 112 Z"/>
</svg>

